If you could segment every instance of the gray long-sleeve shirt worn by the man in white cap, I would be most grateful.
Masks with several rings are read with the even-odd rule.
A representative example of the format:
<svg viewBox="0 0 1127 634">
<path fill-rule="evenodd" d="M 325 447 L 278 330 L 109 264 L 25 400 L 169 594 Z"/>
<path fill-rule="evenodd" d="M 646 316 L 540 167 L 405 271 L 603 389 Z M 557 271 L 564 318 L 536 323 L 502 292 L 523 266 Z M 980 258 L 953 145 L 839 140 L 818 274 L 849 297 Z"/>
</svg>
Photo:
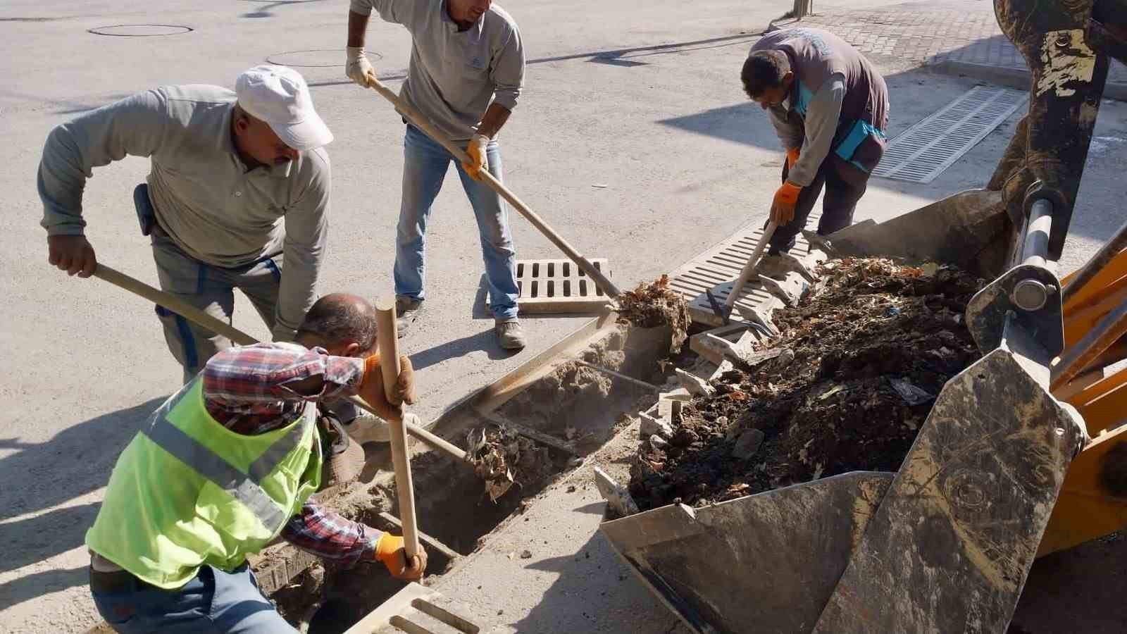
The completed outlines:
<svg viewBox="0 0 1127 634">
<path fill-rule="evenodd" d="M 82 191 L 94 168 L 126 155 L 149 157 L 157 221 L 185 253 L 221 267 L 283 254 L 274 337 L 291 340 L 316 299 L 329 158 L 317 149 L 248 169 L 231 138 L 234 103 L 234 93 L 218 86 L 169 86 L 59 125 L 39 162 L 42 224 L 48 236 L 82 235 Z"/>
</svg>

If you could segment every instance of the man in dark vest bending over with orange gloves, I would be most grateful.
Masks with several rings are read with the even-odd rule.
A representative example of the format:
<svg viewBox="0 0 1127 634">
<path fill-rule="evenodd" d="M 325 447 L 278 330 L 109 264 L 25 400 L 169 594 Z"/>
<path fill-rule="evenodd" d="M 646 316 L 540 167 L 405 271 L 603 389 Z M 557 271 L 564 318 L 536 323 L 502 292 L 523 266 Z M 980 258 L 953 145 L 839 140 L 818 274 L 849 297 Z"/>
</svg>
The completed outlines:
<svg viewBox="0 0 1127 634">
<path fill-rule="evenodd" d="M 787 151 L 769 255 L 795 246 L 823 187 L 818 234 L 853 222 L 869 174 L 885 152 L 888 88 L 861 53 L 819 28 L 770 33 L 752 46 L 744 90 L 767 111 Z"/>
</svg>

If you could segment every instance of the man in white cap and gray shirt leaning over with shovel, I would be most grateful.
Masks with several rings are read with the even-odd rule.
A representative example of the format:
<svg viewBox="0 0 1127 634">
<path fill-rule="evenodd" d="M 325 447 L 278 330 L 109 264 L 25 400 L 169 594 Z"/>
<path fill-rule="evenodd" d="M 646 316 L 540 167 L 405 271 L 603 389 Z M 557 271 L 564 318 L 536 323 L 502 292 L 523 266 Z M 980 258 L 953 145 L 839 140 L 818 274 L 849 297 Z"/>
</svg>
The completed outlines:
<svg viewBox="0 0 1127 634">
<path fill-rule="evenodd" d="M 51 132 L 39 162 L 48 262 L 94 273 L 86 180 L 95 167 L 149 157 L 133 200 L 160 288 L 224 322 L 239 289 L 275 341 L 292 341 L 325 258 L 330 141 L 305 80 L 278 65 L 248 70 L 233 93 L 166 86 L 86 113 Z M 157 315 L 185 384 L 231 345 L 161 307 Z"/>
</svg>

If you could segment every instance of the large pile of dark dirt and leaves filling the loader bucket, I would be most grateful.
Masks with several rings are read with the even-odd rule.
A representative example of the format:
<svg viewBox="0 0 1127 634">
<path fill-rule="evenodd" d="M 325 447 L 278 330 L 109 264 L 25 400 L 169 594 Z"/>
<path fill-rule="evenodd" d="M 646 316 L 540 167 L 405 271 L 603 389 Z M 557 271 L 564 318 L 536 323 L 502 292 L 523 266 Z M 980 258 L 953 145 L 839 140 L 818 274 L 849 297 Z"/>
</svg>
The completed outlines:
<svg viewBox="0 0 1127 634">
<path fill-rule="evenodd" d="M 630 479 L 641 510 L 899 468 L 943 384 L 979 358 L 962 315 L 984 281 L 877 258 L 831 261 L 819 275 L 773 314 L 781 333 L 761 349 L 782 353 L 726 372 L 684 404 L 669 438 L 642 441 Z"/>
</svg>

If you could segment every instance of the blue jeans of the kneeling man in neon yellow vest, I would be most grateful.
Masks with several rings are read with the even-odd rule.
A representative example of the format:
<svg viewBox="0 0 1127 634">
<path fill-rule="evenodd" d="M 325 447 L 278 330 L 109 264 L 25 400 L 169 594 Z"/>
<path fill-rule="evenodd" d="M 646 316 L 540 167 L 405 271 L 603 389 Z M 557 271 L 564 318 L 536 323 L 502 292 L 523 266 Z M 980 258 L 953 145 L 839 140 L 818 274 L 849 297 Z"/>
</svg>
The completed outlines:
<svg viewBox="0 0 1127 634">
<path fill-rule="evenodd" d="M 242 564 L 233 572 L 205 565 L 177 590 L 134 583 L 119 592 L 91 592 L 101 618 L 122 634 L 296 633 L 263 596 Z"/>
</svg>

